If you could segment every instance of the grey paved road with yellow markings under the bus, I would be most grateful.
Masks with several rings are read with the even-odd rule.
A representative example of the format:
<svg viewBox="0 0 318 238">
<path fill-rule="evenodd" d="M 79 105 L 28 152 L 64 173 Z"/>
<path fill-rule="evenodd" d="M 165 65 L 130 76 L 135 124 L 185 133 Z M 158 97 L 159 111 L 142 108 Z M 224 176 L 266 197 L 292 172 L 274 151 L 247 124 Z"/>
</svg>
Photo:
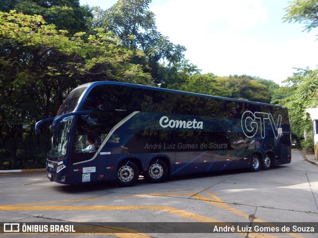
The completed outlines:
<svg viewBox="0 0 318 238">
<path fill-rule="evenodd" d="M 140 222 L 148 228 L 138 229 Z M 211 234 L 197 226 L 215 227 L 216 222 L 227 228 L 239 222 L 239 230 Z M 159 184 L 139 179 L 133 187 L 112 182 L 62 185 L 50 182 L 45 172 L 0 174 L 0 232 L 3 223 L 18 223 L 20 231 L 29 223 L 84 226 L 66 234 L 32 231 L 2 237 L 318 237 L 317 227 L 314 233 L 300 233 L 299 224 L 291 233 L 244 230 L 245 224 L 261 223 L 269 229 L 277 222 L 287 227 L 318 222 L 318 166 L 307 162 L 302 151 L 293 150 L 291 164 L 269 171 L 183 176 Z M 127 233 L 127 227 L 138 233 Z"/>
</svg>

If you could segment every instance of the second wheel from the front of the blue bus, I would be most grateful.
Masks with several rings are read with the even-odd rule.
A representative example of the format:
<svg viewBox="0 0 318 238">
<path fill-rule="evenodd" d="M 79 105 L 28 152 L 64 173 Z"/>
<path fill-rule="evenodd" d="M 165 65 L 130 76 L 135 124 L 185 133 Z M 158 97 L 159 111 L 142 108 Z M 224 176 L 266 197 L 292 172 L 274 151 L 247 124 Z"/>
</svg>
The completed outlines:
<svg viewBox="0 0 318 238">
<path fill-rule="evenodd" d="M 168 176 L 168 167 L 161 159 L 152 160 L 144 175 L 150 182 L 163 182 Z"/>
</svg>

